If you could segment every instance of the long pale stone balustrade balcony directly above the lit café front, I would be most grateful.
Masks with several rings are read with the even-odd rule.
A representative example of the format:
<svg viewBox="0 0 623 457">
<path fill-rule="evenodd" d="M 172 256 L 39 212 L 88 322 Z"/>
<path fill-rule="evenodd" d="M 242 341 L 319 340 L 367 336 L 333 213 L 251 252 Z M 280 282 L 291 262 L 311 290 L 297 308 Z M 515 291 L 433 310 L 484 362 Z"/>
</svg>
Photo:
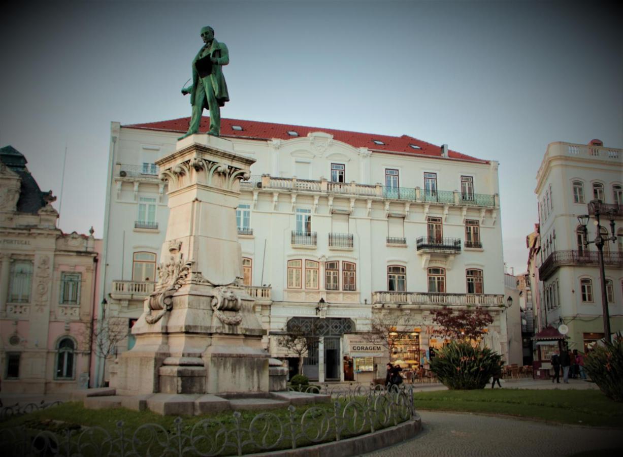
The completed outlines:
<svg viewBox="0 0 623 457">
<path fill-rule="evenodd" d="M 439 294 L 436 292 L 372 292 L 376 305 L 504 306 L 498 294 Z"/>
</svg>

